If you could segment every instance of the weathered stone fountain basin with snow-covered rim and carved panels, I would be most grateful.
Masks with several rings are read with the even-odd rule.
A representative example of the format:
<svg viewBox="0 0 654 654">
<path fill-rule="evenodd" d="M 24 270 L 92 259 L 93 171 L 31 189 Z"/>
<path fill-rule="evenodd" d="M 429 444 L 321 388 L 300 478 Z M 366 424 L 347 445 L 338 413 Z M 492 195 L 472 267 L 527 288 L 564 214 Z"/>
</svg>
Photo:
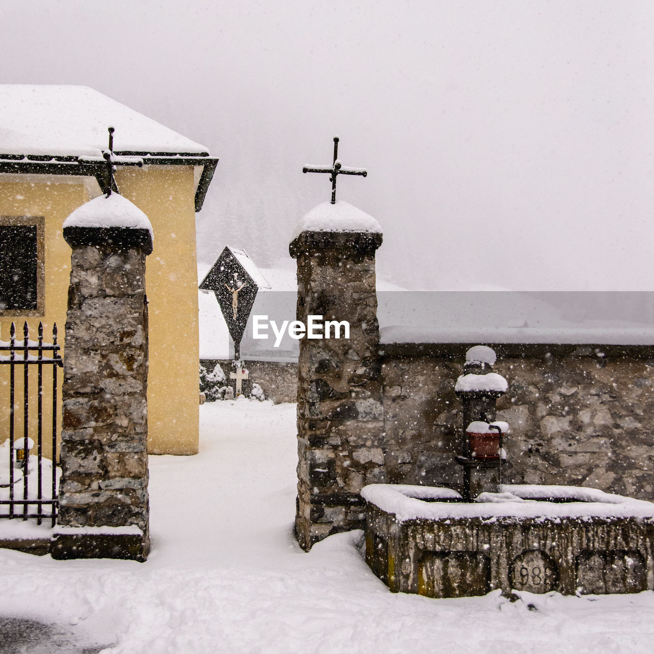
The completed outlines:
<svg viewBox="0 0 654 654">
<path fill-rule="evenodd" d="M 394 593 L 562 594 L 654 589 L 654 504 L 571 486 L 364 487 L 366 562 Z"/>
</svg>

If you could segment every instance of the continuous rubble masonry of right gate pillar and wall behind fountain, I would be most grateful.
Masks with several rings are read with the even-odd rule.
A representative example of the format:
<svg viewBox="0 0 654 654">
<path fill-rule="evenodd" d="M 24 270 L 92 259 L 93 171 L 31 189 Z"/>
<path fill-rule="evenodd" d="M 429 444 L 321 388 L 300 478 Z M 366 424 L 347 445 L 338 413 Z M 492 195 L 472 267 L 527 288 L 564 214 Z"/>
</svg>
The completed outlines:
<svg viewBox="0 0 654 654">
<path fill-rule="evenodd" d="M 300 339 L 298 506 L 301 547 L 364 526 L 370 483 L 466 494 L 468 455 L 455 395 L 477 343 L 379 343 L 375 250 L 381 233 L 302 232 L 298 320 L 347 320 L 350 339 Z M 481 343 L 479 343 L 481 345 Z M 654 499 L 654 347 L 489 344 L 509 382 L 496 419 L 511 432 L 504 483 L 589 486 Z M 483 476 L 483 475 L 481 475 Z"/>
</svg>

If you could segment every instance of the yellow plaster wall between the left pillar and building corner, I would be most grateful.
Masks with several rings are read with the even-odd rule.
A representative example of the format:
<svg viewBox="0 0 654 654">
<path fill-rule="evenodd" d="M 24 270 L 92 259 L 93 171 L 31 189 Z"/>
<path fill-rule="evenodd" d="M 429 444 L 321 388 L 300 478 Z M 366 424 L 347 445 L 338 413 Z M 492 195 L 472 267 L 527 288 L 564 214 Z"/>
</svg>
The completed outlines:
<svg viewBox="0 0 654 654">
<path fill-rule="evenodd" d="M 124 168 L 120 192 L 154 232 L 146 259 L 150 320 L 148 451 L 198 453 L 199 332 L 194 177 L 191 166 Z"/>
</svg>

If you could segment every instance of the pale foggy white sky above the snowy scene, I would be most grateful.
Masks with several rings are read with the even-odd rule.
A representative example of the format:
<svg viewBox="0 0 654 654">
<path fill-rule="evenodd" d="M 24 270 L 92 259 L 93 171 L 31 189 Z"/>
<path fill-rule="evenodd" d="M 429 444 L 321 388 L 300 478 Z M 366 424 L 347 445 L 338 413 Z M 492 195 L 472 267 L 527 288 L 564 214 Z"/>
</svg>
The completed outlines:
<svg viewBox="0 0 654 654">
<path fill-rule="evenodd" d="M 654 290 L 654 5 L 5 2 L 2 83 L 85 84 L 220 158 L 200 260 L 337 196 L 415 288 Z M 116 125 L 116 148 L 120 126 Z"/>
</svg>

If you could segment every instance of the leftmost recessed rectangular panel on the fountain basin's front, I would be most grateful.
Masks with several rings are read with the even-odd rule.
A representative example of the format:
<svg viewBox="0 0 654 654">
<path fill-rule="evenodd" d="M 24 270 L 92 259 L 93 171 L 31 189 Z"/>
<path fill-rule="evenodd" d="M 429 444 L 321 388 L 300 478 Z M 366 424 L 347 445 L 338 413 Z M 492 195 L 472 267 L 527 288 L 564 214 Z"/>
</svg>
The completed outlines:
<svg viewBox="0 0 654 654">
<path fill-rule="evenodd" d="M 490 591 L 490 560 L 476 552 L 425 552 L 418 568 L 418 593 L 468 597 Z"/>
</svg>

